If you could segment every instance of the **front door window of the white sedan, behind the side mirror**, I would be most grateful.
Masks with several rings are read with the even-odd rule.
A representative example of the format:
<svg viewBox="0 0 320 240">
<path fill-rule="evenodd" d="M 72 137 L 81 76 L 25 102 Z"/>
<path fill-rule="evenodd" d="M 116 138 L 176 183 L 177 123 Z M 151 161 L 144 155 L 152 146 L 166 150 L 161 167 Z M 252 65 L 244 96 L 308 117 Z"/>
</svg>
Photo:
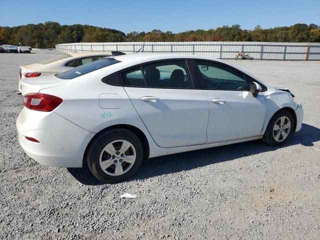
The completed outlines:
<svg viewBox="0 0 320 240">
<path fill-rule="evenodd" d="M 208 89 L 249 90 L 244 74 L 223 64 L 196 61 Z"/>
</svg>

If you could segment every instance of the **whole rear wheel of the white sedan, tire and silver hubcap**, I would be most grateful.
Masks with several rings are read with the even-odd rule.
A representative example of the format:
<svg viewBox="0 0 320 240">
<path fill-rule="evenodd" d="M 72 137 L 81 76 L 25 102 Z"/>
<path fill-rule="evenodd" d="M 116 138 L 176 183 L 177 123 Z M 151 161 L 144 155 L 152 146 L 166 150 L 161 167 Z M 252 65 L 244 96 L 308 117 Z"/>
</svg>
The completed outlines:
<svg viewBox="0 0 320 240">
<path fill-rule="evenodd" d="M 136 172 L 143 159 L 143 147 L 131 131 L 114 128 L 100 133 L 91 142 L 86 157 L 96 178 L 117 182 Z"/>
</svg>

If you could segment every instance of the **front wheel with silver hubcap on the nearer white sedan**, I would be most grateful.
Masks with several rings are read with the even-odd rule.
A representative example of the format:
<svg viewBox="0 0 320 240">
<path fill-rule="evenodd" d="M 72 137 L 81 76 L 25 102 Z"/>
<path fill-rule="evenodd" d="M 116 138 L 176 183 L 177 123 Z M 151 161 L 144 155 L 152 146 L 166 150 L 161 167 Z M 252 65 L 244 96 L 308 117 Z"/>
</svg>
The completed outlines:
<svg viewBox="0 0 320 240">
<path fill-rule="evenodd" d="M 292 114 L 287 110 L 280 110 L 271 117 L 262 141 L 270 146 L 282 145 L 292 134 L 293 126 Z"/>
</svg>

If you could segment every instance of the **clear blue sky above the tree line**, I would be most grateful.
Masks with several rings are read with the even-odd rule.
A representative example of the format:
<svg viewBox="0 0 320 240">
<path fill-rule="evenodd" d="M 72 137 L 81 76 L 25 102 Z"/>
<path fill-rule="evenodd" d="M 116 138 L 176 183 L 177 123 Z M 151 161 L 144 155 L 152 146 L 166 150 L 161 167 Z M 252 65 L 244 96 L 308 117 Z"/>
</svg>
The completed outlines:
<svg viewBox="0 0 320 240">
<path fill-rule="evenodd" d="M 176 33 L 233 24 L 242 29 L 320 25 L 320 0 L 5 0 L 0 5 L 0 26 L 56 21 L 124 33 L 152 29 Z"/>
</svg>

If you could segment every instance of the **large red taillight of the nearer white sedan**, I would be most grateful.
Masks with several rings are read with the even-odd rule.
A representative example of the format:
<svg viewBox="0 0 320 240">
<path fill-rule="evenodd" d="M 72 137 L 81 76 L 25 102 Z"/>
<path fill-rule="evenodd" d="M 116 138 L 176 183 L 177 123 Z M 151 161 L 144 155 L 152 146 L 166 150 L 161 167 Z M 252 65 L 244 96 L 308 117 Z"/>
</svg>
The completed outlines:
<svg viewBox="0 0 320 240">
<path fill-rule="evenodd" d="M 23 96 L 25 107 L 36 111 L 52 111 L 62 101 L 60 97 L 45 93 L 28 93 Z"/>
</svg>

